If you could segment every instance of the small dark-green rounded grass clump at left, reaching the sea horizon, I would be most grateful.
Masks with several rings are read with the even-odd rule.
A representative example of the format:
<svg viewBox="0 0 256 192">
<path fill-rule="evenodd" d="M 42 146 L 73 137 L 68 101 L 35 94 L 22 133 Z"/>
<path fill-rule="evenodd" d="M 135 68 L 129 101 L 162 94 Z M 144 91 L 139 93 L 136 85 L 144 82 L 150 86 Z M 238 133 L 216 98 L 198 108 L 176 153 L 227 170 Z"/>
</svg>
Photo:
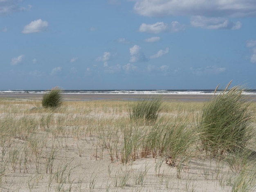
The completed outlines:
<svg viewBox="0 0 256 192">
<path fill-rule="evenodd" d="M 61 92 L 62 92 L 61 89 L 59 89 L 58 87 L 54 87 L 51 89 L 49 93 L 45 93 L 42 99 L 43 107 L 51 107 L 51 108 L 60 107 L 63 103 Z"/>
</svg>

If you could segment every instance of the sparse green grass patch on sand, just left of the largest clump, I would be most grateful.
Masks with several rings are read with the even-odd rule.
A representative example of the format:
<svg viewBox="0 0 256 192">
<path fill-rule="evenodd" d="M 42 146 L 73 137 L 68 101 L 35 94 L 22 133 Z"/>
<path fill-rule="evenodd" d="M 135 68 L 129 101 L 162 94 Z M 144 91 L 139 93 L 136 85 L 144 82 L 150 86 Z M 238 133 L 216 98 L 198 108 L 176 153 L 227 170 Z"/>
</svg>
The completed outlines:
<svg viewBox="0 0 256 192">
<path fill-rule="evenodd" d="M 195 129 L 180 116 L 169 122 L 157 122 L 152 126 L 144 143 L 144 150 L 150 151 L 154 158 L 165 158 L 166 164 L 176 168 L 177 178 L 184 162 L 193 157 L 196 143 Z M 145 153 L 145 152 L 144 152 Z"/>
</svg>

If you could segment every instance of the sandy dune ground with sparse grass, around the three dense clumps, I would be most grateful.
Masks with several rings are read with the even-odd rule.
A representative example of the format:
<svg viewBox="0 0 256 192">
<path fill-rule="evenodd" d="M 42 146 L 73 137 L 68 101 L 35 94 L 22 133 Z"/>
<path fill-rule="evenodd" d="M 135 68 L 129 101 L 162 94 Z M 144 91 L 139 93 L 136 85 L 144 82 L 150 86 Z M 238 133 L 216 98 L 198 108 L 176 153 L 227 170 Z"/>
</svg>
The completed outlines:
<svg viewBox="0 0 256 192">
<path fill-rule="evenodd" d="M 154 123 L 145 123 L 130 119 L 130 101 L 65 101 L 51 110 L 1 99 L 0 190 L 255 190 L 250 153 L 209 160 L 202 152 L 193 117 L 204 103 L 162 102 Z M 245 146 L 251 152 L 255 139 Z"/>
</svg>

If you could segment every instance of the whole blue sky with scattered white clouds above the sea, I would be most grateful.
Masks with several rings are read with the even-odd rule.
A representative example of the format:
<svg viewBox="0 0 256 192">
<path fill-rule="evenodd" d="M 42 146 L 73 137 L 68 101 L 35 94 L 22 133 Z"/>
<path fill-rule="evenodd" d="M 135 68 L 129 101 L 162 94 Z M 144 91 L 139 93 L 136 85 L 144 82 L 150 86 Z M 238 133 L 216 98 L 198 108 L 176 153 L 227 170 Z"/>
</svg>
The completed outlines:
<svg viewBox="0 0 256 192">
<path fill-rule="evenodd" d="M 255 0 L 0 0 L 0 90 L 256 89 Z"/>
</svg>

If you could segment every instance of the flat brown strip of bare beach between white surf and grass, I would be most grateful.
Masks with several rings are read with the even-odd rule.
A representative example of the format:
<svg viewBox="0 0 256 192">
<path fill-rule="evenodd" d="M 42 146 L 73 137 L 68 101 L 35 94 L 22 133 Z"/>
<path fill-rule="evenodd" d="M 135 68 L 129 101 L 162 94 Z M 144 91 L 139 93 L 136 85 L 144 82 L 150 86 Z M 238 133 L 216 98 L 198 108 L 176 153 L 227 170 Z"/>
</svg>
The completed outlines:
<svg viewBox="0 0 256 192">
<path fill-rule="evenodd" d="M 62 94 L 64 101 L 89 100 L 137 100 L 151 96 L 162 96 L 165 101 L 207 101 L 212 94 Z M 0 98 L 20 98 L 41 100 L 43 93 L 0 93 Z M 256 102 L 256 95 L 247 95 L 248 100 Z"/>
</svg>

